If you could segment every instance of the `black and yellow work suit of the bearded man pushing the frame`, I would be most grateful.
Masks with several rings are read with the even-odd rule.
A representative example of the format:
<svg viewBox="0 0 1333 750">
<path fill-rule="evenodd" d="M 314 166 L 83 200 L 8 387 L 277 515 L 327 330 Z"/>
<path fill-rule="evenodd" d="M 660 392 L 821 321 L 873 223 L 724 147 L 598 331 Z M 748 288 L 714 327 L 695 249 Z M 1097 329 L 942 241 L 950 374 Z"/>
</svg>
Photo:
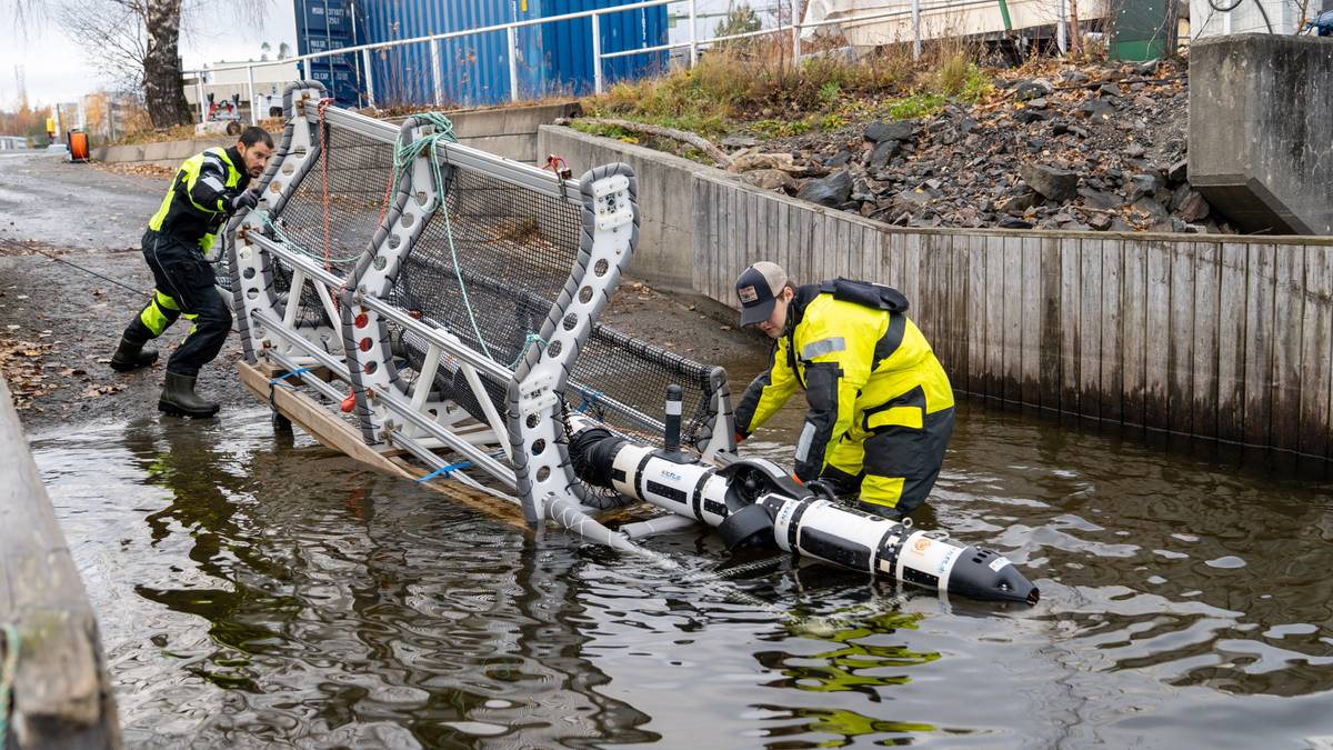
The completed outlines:
<svg viewBox="0 0 1333 750">
<path fill-rule="evenodd" d="M 156 288 L 125 328 L 143 346 L 184 315 L 193 326 L 167 360 L 167 371 L 193 378 L 213 360 L 232 328 L 232 312 L 217 294 L 205 254 L 231 214 L 232 198 L 249 184 L 236 147 L 209 148 L 187 159 L 144 232 L 144 260 Z"/>
</svg>

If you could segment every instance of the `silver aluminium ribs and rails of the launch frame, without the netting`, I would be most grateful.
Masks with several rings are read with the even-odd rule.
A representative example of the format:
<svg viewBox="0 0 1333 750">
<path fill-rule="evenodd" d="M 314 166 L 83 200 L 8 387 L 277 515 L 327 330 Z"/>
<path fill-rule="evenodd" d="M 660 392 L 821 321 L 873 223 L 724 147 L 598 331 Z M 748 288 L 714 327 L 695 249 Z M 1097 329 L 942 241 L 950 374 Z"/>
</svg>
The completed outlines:
<svg viewBox="0 0 1333 750">
<path fill-rule="evenodd" d="M 401 169 L 389 206 L 351 271 L 331 270 L 268 234 L 268 216 L 281 223 L 283 210 L 301 181 L 320 167 L 321 143 L 328 141 L 320 137 L 321 127 L 395 148 L 431 135 L 433 125 L 424 117 L 393 125 L 327 107 L 325 91 L 316 81 L 289 85 L 284 107 L 288 120 L 259 180 L 259 210 L 239 215 L 227 228 L 232 304 L 247 362 L 296 372 L 297 382 L 333 402 L 331 408 L 339 408 L 345 402 L 341 394 L 349 391 L 367 444 L 403 448 L 429 470 L 448 468 L 455 479 L 520 503 L 529 523 L 552 519 L 591 539 L 631 548 L 628 536 L 591 518 L 600 506 L 585 502 L 595 498 L 575 476 L 564 444 L 569 372 L 639 238 L 637 183 L 631 168 L 609 164 L 568 180 L 465 145 L 439 144 L 444 190 L 455 171 L 472 171 L 556 198 L 577 207 L 581 216 L 571 275 L 536 332 L 541 343 L 508 367 L 465 344 L 448 326 L 393 302 L 413 247 L 445 206 L 437 200 L 444 196 L 437 195 L 441 185 L 435 184 L 437 169 L 429 149 Z M 285 294 L 277 286 L 284 278 Z M 323 311 L 313 323 L 297 315 L 303 296 L 309 304 L 311 292 Z M 391 326 L 425 342 L 415 380 L 399 371 Z M 316 366 L 327 370 L 331 382 L 299 371 Z M 483 414 L 469 414 L 432 392 L 441 367 L 463 375 Z M 714 404 L 709 454 L 729 447 L 733 434 L 725 374 L 717 372 L 709 392 Z M 487 383 L 507 394 L 500 410 Z M 469 476 L 459 468 L 463 463 L 485 472 L 492 483 Z"/>
</svg>

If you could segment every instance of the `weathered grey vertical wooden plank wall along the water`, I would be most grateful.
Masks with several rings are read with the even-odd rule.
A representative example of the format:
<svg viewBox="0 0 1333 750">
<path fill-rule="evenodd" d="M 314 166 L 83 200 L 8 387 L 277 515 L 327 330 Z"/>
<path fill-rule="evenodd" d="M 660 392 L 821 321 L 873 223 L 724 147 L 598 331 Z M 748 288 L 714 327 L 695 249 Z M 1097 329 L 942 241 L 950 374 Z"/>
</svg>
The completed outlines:
<svg viewBox="0 0 1333 750">
<path fill-rule="evenodd" d="M 694 288 L 716 300 L 762 259 L 886 283 L 960 391 L 1333 458 L 1333 240 L 901 230 L 694 184 Z"/>
</svg>

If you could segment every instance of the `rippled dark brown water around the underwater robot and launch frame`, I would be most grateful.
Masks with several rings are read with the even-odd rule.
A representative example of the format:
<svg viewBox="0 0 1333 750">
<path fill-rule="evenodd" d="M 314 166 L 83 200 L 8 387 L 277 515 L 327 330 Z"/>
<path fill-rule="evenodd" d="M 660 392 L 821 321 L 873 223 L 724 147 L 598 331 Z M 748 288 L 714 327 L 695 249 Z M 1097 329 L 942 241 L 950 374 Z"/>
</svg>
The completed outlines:
<svg viewBox="0 0 1333 750">
<path fill-rule="evenodd" d="M 1026 609 L 705 532 L 651 540 L 666 571 L 260 408 L 33 451 L 132 746 L 1333 746 L 1333 486 L 1285 468 L 962 404 L 918 523 L 1006 554 Z"/>
</svg>

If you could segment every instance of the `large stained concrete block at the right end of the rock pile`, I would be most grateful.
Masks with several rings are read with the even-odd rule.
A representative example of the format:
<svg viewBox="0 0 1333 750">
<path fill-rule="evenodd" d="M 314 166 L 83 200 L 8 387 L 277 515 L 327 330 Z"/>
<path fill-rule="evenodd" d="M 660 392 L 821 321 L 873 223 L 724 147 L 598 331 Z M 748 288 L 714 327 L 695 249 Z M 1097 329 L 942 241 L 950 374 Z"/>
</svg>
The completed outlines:
<svg viewBox="0 0 1333 750">
<path fill-rule="evenodd" d="M 1189 51 L 1189 181 L 1250 232 L 1333 234 L 1333 39 Z"/>
</svg>

